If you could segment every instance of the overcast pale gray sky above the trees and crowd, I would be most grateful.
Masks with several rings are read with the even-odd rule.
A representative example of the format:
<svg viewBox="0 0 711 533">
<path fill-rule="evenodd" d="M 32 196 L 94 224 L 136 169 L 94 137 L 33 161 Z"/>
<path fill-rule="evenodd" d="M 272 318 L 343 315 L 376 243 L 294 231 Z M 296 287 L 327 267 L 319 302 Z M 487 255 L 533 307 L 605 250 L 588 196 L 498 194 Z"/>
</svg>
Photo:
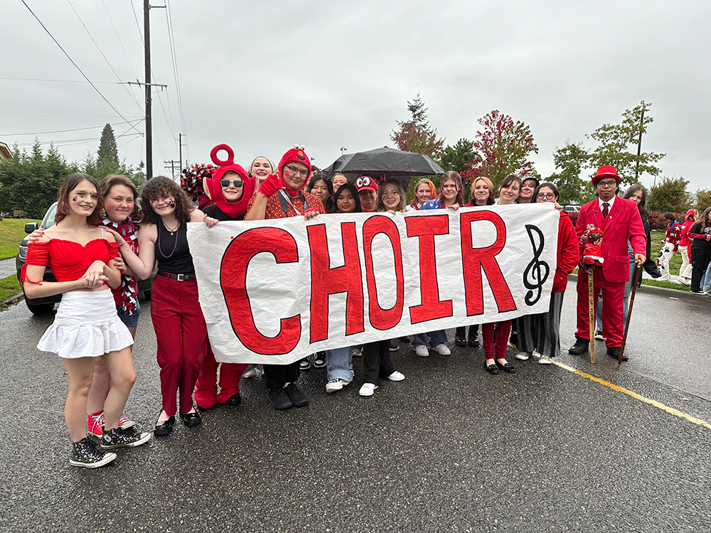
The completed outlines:
<svg viewBox="0 0 711 533">
<path fill-rule="evenodd" d="M 142 91 L 117 85 L 144 79 L 143 2 L 25 1 L 118 113 L 23 2 L 6 0 L 0 141 L 28 146 L 35 135 L 18 134 L 92 128 L 37 135 L 75 161 L 95 154 L 109 122 L 129 134 L 117 139 L 119 157 L 144 160 Z M 341 146 L 392 146 L 419 92 L 447 144 L 474 139 L 492 109 L 528 124 L 542 176 L 554 171 L 555 146 L 594 147 L 585 134 L 643 99 L 655 119 L 643 150 L 665 152 L 663 175 L 683 176 L 690 191 L 711 188 L 710 15 L 707 0 L 172 0 L 151 9 L 154 82 L 169 85 L 154 95 L 154 173 L 178 159 L 179 132 L 191 162 L 209 162 L 223 142 L 245 166 L 298 143 L 328 166 Z"/>
</svg>

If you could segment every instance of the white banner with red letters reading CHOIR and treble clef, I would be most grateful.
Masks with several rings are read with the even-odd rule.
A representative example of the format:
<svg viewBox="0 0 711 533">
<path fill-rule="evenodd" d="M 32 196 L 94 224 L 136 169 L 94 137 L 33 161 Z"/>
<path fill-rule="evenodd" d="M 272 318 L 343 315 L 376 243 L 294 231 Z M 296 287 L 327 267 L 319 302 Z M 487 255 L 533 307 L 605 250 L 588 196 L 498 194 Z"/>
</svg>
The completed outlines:
<svg viewBox="0 0 711 533">
<path fill-rule="evenodd" d="M 552 204 L 188 224 L 219 362 L 329 348 L 548 309 Z"/>
</svg>

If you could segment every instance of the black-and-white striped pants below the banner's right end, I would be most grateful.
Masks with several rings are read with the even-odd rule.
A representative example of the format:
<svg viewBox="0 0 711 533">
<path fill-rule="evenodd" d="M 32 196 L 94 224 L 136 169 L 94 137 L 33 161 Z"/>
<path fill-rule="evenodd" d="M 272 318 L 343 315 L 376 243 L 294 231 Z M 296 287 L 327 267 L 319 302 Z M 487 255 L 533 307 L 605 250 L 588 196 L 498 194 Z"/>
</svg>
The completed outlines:
<svg viewBox="0 0 711 533">
<path fill-rule="evenodd" d="M 543 356 L 560 355 L 560 309 L 565 291 L 550 294 L 547 313 L 520 316 L 518 321 L 518 351 Z"/>
</svg>

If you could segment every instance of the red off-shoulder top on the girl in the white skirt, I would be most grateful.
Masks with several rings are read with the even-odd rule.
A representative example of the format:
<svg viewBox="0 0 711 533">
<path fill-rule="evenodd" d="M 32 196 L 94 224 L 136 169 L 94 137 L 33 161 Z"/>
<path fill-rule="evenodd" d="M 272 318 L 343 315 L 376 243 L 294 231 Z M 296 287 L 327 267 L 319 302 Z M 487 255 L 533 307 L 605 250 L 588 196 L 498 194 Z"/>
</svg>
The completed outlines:
<svg viewBox="0 0 711 533">
<path fill-rule="evenodd" d="M 85 274 L 95 261 L 109 264 L 117 257 L 119 245 L 106 239 L 94 239 L 87 244 L 50 239 L 46 242 L 32 242 L 27 249 L 27 259 L 22 267 L 21 281 L 40 284 L 41 279 L 27 279 L 25 271 L 28 264 L 42 266 L 49 264 L 57 281 L 76 281 Z"/>
</svg>

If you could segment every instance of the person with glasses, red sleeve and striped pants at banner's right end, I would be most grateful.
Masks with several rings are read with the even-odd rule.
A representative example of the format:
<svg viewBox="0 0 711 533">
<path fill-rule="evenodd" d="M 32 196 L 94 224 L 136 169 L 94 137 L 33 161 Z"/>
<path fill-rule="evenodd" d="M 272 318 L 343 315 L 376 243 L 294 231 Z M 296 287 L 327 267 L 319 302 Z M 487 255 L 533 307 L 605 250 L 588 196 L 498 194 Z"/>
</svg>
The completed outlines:
<svg viewBox="0 0 711 533">
<path fill-rule="evenodd" d="M 555 185 L 543 182 L 535 188 L 533 200 L 534 203 L 555 204 L 559 196 Z M 557 260 L 548 311 L 537 315 L 524 315 L 517 319 L 519 352 L 516 359 L 525 361 L 532 352 L 538 352 L 539 364 L 550 365 L 553 362 L 552 357 L 560 355 L 560 309 L 568 284 L 568 274 L 577 265 L 579 254 L 575 228 L 567 212 L 560 210 Z"/>
</svg>

